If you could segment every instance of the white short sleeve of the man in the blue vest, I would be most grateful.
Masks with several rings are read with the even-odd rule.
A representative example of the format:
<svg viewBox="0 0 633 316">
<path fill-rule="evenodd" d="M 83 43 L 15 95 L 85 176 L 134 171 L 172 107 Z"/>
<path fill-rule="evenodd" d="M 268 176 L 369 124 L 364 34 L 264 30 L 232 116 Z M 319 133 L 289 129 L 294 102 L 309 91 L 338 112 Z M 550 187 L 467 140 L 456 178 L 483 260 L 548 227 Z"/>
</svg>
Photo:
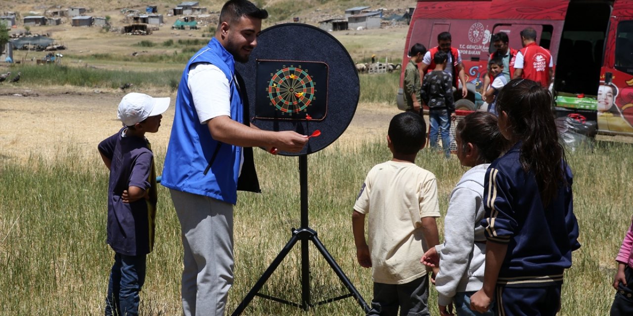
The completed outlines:
<svg viewBox="0 0 633 316">
<path fill-rule="evenodd" d="M 231 116 L 231 93 L 227 76 L 214 64 L 199 63 L 189 70 L 189 90 L 200 124 L 218 116 Z M 210 87 L 213 87 L 211 89 Z"/>
</svg>

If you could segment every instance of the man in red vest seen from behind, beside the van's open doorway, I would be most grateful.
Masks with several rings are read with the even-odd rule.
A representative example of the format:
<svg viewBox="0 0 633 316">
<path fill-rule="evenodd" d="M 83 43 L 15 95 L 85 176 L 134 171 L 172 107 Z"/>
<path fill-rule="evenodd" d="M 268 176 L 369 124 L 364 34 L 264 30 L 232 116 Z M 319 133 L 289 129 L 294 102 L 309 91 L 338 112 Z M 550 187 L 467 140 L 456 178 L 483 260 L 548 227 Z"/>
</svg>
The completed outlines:
<svg viewBox="0 0 633 316">
<path fill-rule="evenodd" d="M 536 30 L 525 28 L 521 31 L 523 48 L 515 59 L 515 73 L 513 79 L 523 78 L 541 83 L 544 88 L 549 87 L 554 76 L 554 61 L 551 53 L 536 44 Z"/>
</svg>

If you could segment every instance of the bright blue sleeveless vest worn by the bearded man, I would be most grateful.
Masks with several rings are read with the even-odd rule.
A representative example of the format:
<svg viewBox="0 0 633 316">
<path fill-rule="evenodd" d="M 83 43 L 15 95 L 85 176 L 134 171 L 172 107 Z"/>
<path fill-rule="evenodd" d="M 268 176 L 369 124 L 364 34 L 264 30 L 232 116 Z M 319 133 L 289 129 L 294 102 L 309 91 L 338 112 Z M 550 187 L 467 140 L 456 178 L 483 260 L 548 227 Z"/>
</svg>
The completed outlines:
<svg viewBox="0 0 633 316">
<path fill-rule="evenodd" d="M 242 147 L 214 140 L 208 126 L 200 124 L 188 85 L 189 67 L 194 63 L 211 63 L 222 70 L 229 80 L 231 119 L 244 123 L 244 107 L 234 80 L 235 61 L 213 37 L 189 60 L 180 78 L 161 185 L 235 204 Z"/>
</svg>

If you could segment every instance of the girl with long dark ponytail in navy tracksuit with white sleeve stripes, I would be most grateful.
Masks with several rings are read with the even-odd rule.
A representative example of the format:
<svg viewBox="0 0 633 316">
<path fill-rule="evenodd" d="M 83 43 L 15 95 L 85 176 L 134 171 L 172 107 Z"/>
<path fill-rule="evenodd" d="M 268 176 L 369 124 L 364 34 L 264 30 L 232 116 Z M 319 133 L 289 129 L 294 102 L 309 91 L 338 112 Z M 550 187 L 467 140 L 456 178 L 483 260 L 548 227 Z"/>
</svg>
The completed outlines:
<svg viewBox="0 0 633 316">
<path fill-rule="evenodd" d="M 580 248 L 572 171 L 558 142 L 551 94 L 517 79 L 498 95 L 499 130 L 513 147 L 486 171 L 484 285 L 470 307 L 498 315 L 556 315 L 563 272 Z"/>
</svg>

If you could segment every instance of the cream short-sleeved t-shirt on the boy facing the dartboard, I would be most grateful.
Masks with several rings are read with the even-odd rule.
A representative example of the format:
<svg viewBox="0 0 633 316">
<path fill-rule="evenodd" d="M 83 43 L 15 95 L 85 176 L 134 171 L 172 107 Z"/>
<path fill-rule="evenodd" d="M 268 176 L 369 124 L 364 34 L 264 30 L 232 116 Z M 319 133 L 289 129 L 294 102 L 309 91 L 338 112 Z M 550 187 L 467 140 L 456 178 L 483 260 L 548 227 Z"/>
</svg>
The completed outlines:
<svg viewBox="0 0 633 316">
<path fill-rule="evenodd" d="M 376 283 L 404 284 L 427 272 L 422 217 L 439 217 L 434 174 L 411 162 L 387 161 L 365 178 L 354 210 L 367 214 L 367 243 Z"/>
</svg>

